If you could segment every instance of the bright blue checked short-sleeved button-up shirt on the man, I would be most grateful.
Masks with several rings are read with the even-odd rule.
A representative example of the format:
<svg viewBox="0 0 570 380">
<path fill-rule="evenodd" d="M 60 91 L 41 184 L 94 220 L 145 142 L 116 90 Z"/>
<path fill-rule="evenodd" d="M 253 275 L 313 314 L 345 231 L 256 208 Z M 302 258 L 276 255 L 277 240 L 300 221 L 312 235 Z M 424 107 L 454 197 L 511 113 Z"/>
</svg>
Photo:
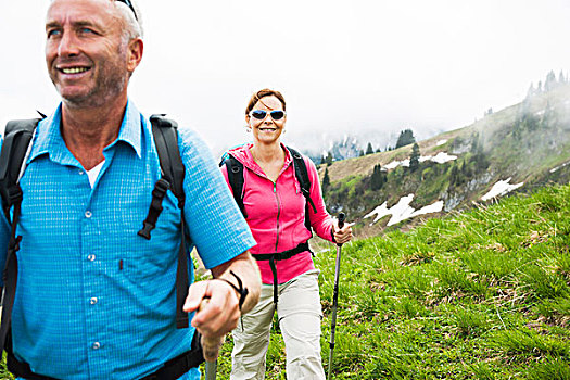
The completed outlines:
<svg viewBox="0 0 570 380">
<path fill-rule="evenodd" d="M 38 125 L 21 180 L 14 353 L 59 379 L 141 378 L 188 351 L 194 332 L 175 324 L 177 200 L 168 191 L 151 240 L 137 235 L 161 169 L 150 122 L 130 101 L 92 188 L 60 125 L 61 105 Z M 255 241 L 207 147 L 181 129 L 179 148 L 188 233 L 212 268 Z M 9 232 L 2 217 L 2 268 Z"/>
</svg>

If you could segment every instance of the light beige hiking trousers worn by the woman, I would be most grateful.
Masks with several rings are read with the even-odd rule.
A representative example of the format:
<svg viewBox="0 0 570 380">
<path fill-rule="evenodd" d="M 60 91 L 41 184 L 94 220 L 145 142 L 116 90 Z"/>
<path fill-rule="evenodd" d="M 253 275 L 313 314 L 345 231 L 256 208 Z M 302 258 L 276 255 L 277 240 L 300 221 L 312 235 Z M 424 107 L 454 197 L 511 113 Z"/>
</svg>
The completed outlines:
<svg viewBox="0 0 570 380">
<path fill-rule="evenodd" d="M 279 286 L 277 316 L 287 354 L 287 378 L 324 380 L 320 360 L 322 312 L 317 269 Z M 275 313 L 274 286 L 262 284 L 257 305 L 232 331 L 231 380 L 263 380 Z"/>
</svg>

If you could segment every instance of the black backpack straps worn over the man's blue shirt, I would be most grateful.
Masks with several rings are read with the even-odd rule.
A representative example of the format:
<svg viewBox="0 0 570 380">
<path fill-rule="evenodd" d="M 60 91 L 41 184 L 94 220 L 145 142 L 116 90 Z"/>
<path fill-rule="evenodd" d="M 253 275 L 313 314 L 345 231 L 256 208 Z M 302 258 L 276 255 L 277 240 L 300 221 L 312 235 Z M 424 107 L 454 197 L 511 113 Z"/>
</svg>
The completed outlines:
<svg viewBox="0 0 570 380">
<path fill-rule="evenodd" d="M 43 115 L 42 115 L 43 116 Z M 45 117 L 45 116 L 43 116 Z M 0 151 L 0 195 L 2 198 L 2 210 L 11 224 L 10 241 L 8 246 L 7 263 L 2 276 L 4 279 L 4 292 L 2 296 L 2 321 L 0 326 L 0 354 L 3 347 L 11 353 L 11 339 L 9 337 L 12 308 L 14 305 L 15 290 L 17 283 L 17 259 L 16 252 L 20 249 L 22 237 L 16 237 L 16 226 L 20 218 L 23 200 L 20 178 L 25 169 L 25 160 L 30 147 L 35 129 L 41 118 L 11 121 L 7 124 L 4 141 Z M 152 115 L 152 135 L 159 160 L 161 162 L 161 178 L 154 185 L 149 214 L 143 221 L 143 227 L 138 235 L 144 239 L 151 238 L 151 231 L 156 225 L 161 214 L 162 201 L 169 189 L 178 200 L 181 214 L 181 243 L 178 252 L 178 268 L 176 273 L 176 326 L 187 328 L 188 314 L 182 306 L 188 294 L 188 255 L 186 253 L 186 233 L 183 206 L 186 195 L 183 192 L 185 166 L 178 150 L 178 124 L 164 115 Z M 13 207 L 12 217 L 10 210 Z M 198 334 L 194 334 L 197 337 Z"/>
</svg>

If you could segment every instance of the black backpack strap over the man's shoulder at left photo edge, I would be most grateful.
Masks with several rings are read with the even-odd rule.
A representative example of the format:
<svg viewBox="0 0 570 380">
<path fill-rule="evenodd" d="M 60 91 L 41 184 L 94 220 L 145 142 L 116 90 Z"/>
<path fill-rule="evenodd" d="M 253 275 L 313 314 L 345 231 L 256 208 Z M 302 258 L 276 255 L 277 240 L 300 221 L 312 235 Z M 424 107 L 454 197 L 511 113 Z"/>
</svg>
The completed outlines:
<svg viewBox="0 0 570 380">
<path fill-rule="evenodd" d="M 0 152 L 0 195 L 2 207 L 10 220 L 10 208 L 22 201 L 18 181 L 24 173 L 25 160 L 31 138 L 40 118 L 8 122 Z"/>
</svg>

